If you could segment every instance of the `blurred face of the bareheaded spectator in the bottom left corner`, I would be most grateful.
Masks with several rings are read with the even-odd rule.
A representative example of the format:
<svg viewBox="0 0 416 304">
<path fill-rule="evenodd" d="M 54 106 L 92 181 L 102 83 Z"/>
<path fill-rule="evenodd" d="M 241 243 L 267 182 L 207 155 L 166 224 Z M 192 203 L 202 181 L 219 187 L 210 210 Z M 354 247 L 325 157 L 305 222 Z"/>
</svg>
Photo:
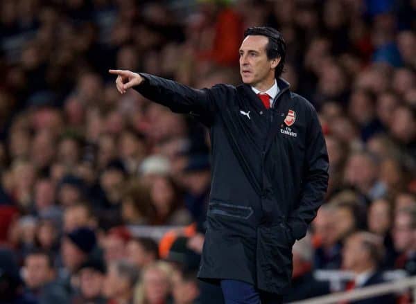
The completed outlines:
<svg viewBox="0 0 416 304">
<path fill-rule="evenodd" d="M 52 278 L 52 269 L 49 267 L 48 258 L 40 254 L 26 258 L 25 270 L 25 283 L 31 289 L 42 287 Z"/>
</svg>

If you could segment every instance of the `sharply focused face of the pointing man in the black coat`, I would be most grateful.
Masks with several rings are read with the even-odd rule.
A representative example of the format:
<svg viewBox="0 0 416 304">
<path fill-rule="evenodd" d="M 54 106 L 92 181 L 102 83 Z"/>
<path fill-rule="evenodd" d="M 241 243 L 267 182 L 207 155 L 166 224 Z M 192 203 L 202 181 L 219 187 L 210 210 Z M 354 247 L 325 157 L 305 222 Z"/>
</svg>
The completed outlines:
<svg viewBox="0 0 416 304">
<path fill-rule="evenodd" d="M 256 86 L 266 78 L 274 77 L 278 59 L 268 60 L 268 37 L 248 35 L 240 47 L 240 74 L 245 84 Z"/>
</svg>

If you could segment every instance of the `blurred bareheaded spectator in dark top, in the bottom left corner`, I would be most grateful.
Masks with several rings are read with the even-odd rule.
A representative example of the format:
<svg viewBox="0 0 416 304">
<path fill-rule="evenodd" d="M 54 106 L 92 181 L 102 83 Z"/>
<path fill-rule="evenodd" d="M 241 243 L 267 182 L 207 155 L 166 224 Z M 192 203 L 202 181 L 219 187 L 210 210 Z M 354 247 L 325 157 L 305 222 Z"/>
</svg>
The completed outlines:
<svg viewBox="0 0 416 304">
<path fill-rule="evenodd" d="M 26 295 L 38 303 L 69 303 L 67 291 L 54 282 L 53 259 L 40 250 L 31 251 L 24 259 L 24 283 Z"/>
</svg>

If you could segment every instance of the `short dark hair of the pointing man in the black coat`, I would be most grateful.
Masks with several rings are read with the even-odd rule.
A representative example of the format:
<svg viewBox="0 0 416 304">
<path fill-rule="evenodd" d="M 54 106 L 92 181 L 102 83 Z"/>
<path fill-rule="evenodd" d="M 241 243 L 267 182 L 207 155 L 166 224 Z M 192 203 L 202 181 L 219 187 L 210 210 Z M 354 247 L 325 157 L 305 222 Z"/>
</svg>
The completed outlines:
<svg viewBox="0 0 416 304">
<path fill-rule="evenodd" d="M 275 78 L 279 78 L 281 73 L 283 73 L 284 60 L 286 58 L 286 42 L 284 42 L 283 36 L 275 28 L 270 28 L 268 26 L 254 26 L 248 28 L 244 32 L 244 38 L 248 35 L 260 35 L 268 37 L 268 44 L 266 46 L 266 54 L 268 60 L 275 58 L 280 58 L 279 64 L 277 64 L 275 69 Z"/>
</svg>

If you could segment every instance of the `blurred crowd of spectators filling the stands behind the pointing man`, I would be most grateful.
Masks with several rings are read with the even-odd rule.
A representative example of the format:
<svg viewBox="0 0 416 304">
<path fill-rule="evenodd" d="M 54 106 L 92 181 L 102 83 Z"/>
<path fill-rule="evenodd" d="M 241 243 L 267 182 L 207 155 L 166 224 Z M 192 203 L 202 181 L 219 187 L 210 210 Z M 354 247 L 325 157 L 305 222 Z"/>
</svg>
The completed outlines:
<svg viewBox="0 0 416 304">
<path fill-rule="evenodd" d="M 239 84 L 243 30 L 258 25 L 284 35 L 283 78 L 318 110 L 330 161 L 286 300 L 416 274 L 416 1 L 3 0 L 0 12 L 0 303 L 221 303 L 196 279 L 209 131 L 119 95 L 107 70 Z M 134 233 L 144 226 L 172 229 Z"/>
</svg>

